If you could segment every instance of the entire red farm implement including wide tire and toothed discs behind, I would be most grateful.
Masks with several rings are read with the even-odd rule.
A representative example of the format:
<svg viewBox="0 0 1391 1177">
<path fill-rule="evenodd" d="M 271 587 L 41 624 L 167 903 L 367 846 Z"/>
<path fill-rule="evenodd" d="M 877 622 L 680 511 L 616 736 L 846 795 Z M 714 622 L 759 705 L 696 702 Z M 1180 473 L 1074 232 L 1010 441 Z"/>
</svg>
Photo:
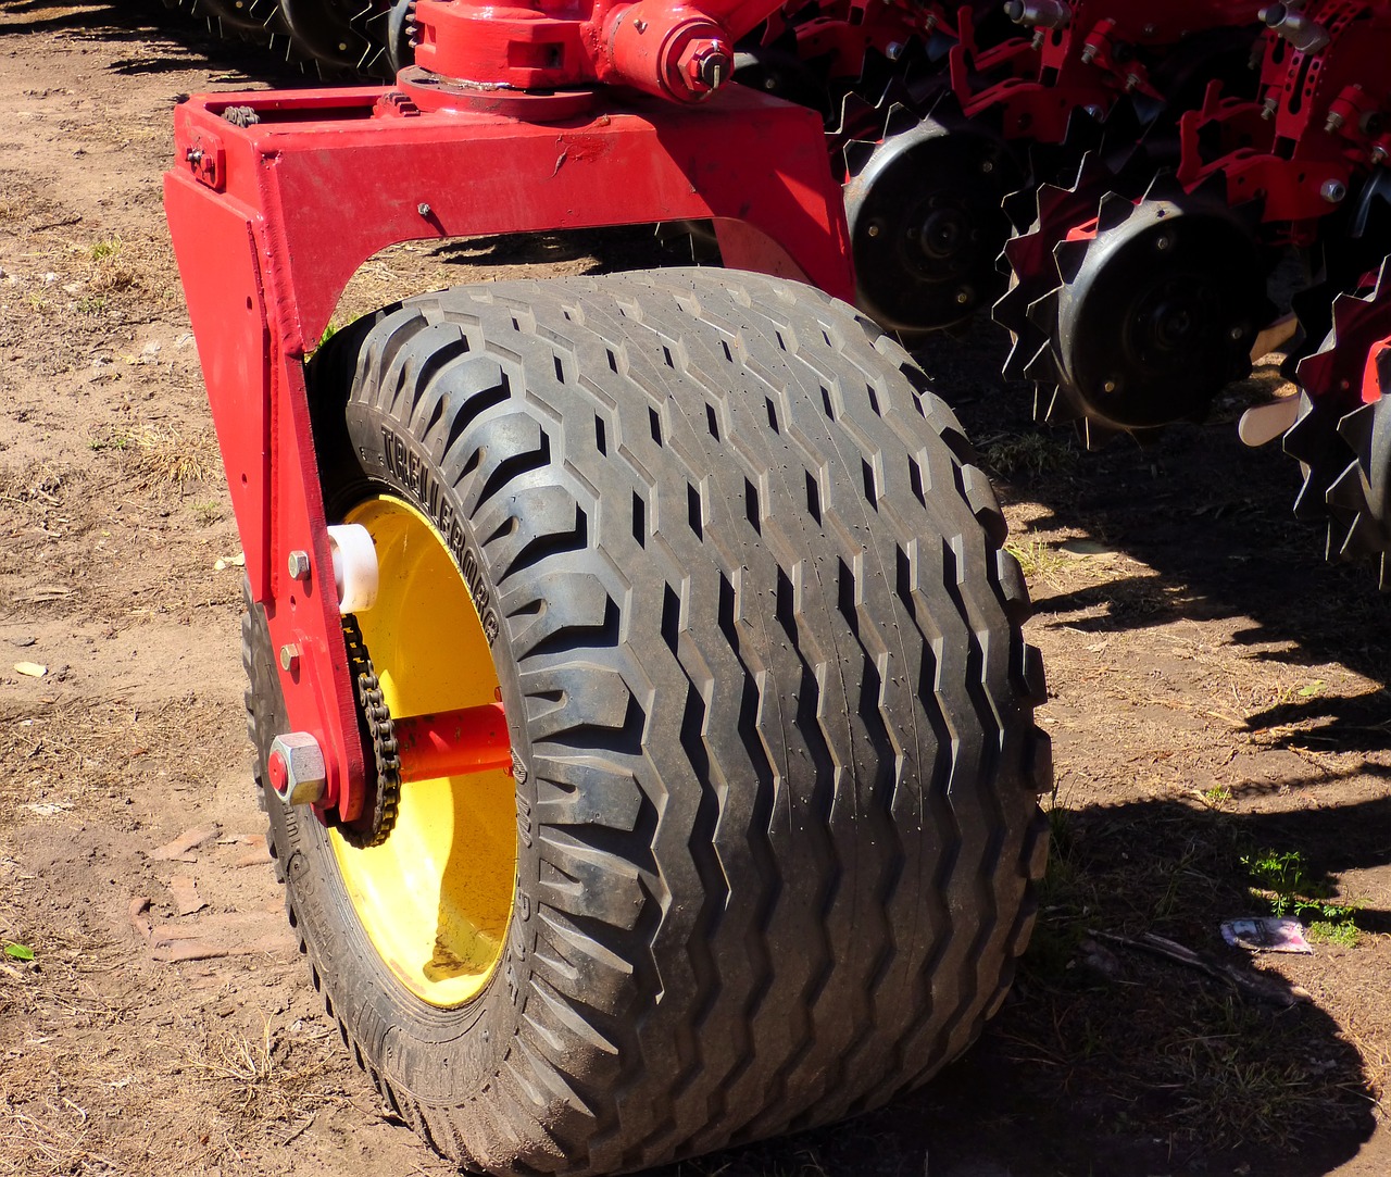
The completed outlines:
<svg viewBox="0 0 1391 1177">
<path fill-rule="evenodd" d="M 184 103 L 166 198 L 291 918 L 451 1156 L 823 1123 L 1002 1000 L 1042 671 L 892 334 L 993 303 L 1040 416 L 1145 434 L 1249 371 L 1295 252 L 1303 394 L 1244 435 L 1288 429 L 1330 552 L 1391 548 L 1391 0 L 196 8 L 392 75 Z M 727 269 L 458 288 L 320 345 L 389 245 L 651 223 Z"/>
</svg>

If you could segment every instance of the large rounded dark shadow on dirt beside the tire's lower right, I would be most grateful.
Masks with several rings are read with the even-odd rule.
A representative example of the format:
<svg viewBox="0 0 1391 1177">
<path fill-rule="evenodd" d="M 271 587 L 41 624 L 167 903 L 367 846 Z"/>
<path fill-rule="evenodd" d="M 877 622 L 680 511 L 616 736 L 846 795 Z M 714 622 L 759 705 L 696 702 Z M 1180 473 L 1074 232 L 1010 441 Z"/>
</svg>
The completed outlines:
<svg viewBox="0 0 1391 1177">
<path fill-rule="evenodd" d="M 1376 1124 L 1373 1077 L 1338 1024 L 1269 970 L 1262 1000 L 1123 940 L 1156 932 L 1246 971 L 1249 954 L 1216 938 L 1249 908 L 1242 856 L 1294 844 L 1327 870 L 1380 865 L 1385 839 L 1345 835 L 1388 819 L 1391 801 L 1298 815 L 1059 810 L 1034 942 L 964 1059 L 847 1124 L 647 1177 L 1330 1173 Z M 1383 911 L 1358 920 L 1387 927 Z"/>
</svg>

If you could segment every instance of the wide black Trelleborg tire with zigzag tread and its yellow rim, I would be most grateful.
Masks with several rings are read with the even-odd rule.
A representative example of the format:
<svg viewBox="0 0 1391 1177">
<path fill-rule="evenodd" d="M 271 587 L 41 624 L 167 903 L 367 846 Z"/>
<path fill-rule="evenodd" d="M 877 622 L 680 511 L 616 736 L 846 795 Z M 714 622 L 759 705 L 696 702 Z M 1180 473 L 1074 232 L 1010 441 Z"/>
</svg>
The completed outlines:
<svg viewBox="0 0 1391 1177">
<path fill-rule="evenodd" d="M 807 287 L 666 270 L 413 298 L 310 394 L 385 705 L 497 697 L 512 740 L 512 774 L 405 785 L 374 849 L 267 793 L 391 1106 L 490 1173 L 618 1173 L 958 1056 L 1029 935 L 1050 768 L 1004 520 L 908 355 Z"/>
</svg>

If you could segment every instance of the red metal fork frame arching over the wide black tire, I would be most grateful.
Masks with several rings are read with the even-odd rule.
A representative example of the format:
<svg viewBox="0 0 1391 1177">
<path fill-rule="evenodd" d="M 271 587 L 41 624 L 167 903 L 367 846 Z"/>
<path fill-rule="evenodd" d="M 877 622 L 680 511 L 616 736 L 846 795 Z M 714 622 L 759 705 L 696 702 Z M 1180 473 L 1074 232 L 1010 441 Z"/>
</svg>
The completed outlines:
<svg viewBox="0 0 1391 1177">
<path fill-rule="evenodd" d="M 675 24 L 690 15 L 672 11 Z M 751 10 L 730 15 L 740 11 Z M 854 292 L 840 188 L 811 111 L 734 85 L 698 107 L 542 97 L 534 115 L 510 92 L 498 95 L 504 114 L 479 102 L 485 89 L 437 89 L 435 110 L 378 88 L 191 99 L 164 182 L 252 595 L 275 647 L 299 651 L 281 673 L 289 723 L 324 751 L 320 814 L 345 821 L 362 811 L 364 751 L 305 360 L 357 267 L 410 239 L 712 217 L 726 264 Z M 591 109 L 573 113 L 580 104 Z M 232 107 L 259 122 L 234 125 Z M 289 575 L 296 550 L 310 555 L 305 580 Z"/>
</svg>

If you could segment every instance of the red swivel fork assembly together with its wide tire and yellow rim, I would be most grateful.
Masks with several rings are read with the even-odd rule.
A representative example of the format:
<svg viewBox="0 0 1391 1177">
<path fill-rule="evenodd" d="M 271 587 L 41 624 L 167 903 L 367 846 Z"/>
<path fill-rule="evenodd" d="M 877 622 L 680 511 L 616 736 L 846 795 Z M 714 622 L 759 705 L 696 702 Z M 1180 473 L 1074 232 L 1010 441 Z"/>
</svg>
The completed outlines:
<svg viewBox="0 0 1391 1177">
<path fill-rule="evenodd" d="M 836 301 L 825 121 L 730 81 L 771 6 L 385 15 L 394 85 L 189 99 L 166 177 L 314 984 L 391 1106 L 494 1173 L 882 1103 L 1003 1000 L 1050 760 L 993 493 Z M 325 339 L 395 242 L 670 220 L 729 269 L 460 287 Z"/>
</svg>

